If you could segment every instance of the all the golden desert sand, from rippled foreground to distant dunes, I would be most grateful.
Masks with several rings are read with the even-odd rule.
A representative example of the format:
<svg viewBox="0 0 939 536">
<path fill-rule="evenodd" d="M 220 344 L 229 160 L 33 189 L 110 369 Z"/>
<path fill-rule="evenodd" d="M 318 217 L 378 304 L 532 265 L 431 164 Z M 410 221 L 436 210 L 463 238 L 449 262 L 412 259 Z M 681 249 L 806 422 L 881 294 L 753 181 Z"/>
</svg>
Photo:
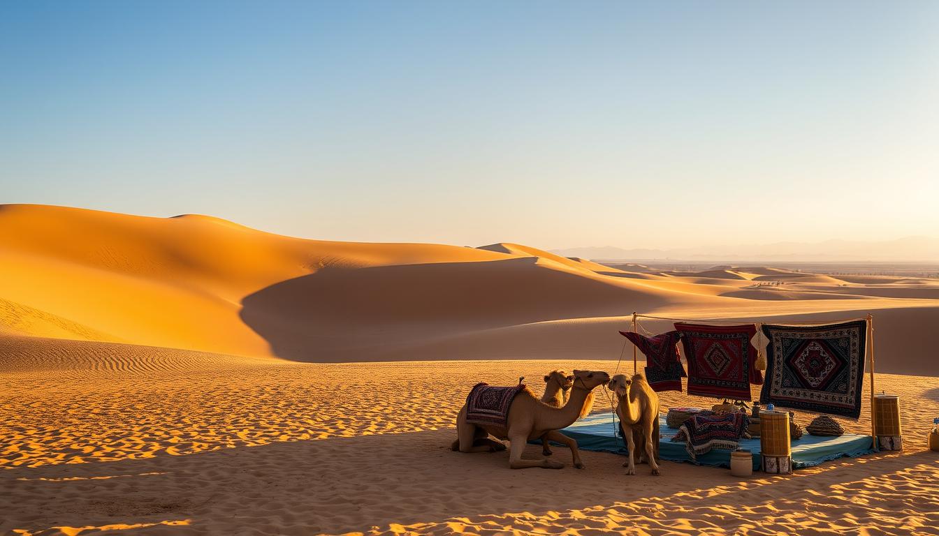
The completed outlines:
<svg viewBox="0 0 939 536">
<path fill-rule="evenodd" d="M 517 244 L 0 206 L 0 282 L 3 534 L 939 533 L 928 278 L 631 271 Z M 595 452 L 577 470 L 563 449 L 562 470 L 513 471 L 506 452 L 449 451 L 477 381 L 632 372 L 616 330 L 633 311 L 873 314 L 876 389 L 901 395 L 905 451 L 748 479 L 670 462 L 626 477 Z M 867 405 L 839 421 L 870 433 Z"/>
</svg>

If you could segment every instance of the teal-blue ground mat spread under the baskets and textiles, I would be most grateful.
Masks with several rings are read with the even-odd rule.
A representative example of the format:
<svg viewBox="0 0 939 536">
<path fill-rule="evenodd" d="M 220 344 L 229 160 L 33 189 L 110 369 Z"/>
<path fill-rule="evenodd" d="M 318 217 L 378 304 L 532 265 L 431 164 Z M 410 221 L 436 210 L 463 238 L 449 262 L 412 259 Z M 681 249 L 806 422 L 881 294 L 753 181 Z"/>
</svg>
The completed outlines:
<svg viewBox="0 0 939 536">
<path fill-rule="evenodd" d="M 564 428 L 562 433 L 577 439 L 577 446 L 584 451 L 627 454 L 629 451 L 623 444 L 623 438 L 613 435 L 611 416 L 611 413 L 594 413 Z M 664 415 L 660 416 L 660 424 L 662 436 L 658 445 L 659 457 L 674 462 L 690 462 L 691 457 L 685 451 L 685 442 L 671 441 L 671 436 L 677 434 L 678 430 L 666 426 Z M 753 468 L 759 469 L 760 438 L 741 439 L 740 448 L 753 453 Z M 793 468 L 817 466 L 841 456 L 856 457 L 871 452 L 873 450 L 870 436 L 845 434 L 838 437 L 821 437 L 805 434 L 793 441 Z M 731 467 L 731 452 L 713 450 L 700 454 L 698 462 L 702 466 Z"/>
</svg>

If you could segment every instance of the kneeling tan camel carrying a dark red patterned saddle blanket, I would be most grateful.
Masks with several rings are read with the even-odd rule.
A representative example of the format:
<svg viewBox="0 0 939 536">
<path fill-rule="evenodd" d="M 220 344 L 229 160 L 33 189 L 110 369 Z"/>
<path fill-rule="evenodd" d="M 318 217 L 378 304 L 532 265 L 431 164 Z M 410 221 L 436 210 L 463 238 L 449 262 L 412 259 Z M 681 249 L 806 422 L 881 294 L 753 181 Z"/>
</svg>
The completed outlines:
<svg viewBox="0 0 939 536">
<path fill-rule="evenodd" d="M 494 452 L 505 449 L 504 444 L 490 438 L 491 435 L 508 439 L 511 442 L 509 467 L 513 469 L 527 467 L 560 469 L 564 467 L 562 462 L 546 458 L 541 460 L 522 458 L 525 444 L 529 440 L 544 437 L 570 448 L 574 467 L 582 469 L 584 465 L 580 460 L 580 452 L 577 451 L 577 441 L 564 436 L 558 430 L 570 426 L 577 419 L 590 413 L 593 408 L 593 389 L 606 385 L 608 382 L 609 375 L 605 372 L 574 371 L 574 385 L 571 387 L 567 404 L 562 407 L 546 405 L 528 389 L 520 391 L 509 406 L 504 427 L 467 422 L 467 405 L 464 404 L 456 415 L 456 441 L 452 448 L 459 452 Z"/>
</svg>

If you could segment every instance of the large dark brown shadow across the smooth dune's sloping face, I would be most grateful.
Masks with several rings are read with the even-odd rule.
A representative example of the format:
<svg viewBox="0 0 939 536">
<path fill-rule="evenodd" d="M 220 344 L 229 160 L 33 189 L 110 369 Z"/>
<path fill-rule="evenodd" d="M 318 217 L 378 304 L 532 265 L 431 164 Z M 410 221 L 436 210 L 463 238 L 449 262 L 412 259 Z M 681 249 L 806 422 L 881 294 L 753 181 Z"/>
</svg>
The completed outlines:
<svg viewBox="0 0 939 536">
<path fill-rule="evenodd" d="M 241 300 L 241 320 L 288 360 L 381 359 L 389 348 L 546 320 L 624 314 L 653 290 L 545 268 L 537 258 L 322 268 Z M 446 359 L 440 356 L 439 359 Z"/>
</svg>

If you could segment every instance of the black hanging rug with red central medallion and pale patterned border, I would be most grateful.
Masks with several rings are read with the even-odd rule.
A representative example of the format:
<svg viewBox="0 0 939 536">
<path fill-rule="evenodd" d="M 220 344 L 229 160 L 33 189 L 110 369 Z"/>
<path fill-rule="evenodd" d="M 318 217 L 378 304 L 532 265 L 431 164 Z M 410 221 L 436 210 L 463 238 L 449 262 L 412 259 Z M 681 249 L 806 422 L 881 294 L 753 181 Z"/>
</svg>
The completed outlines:
<svg viewBox="0 0 939 536">
<path fill-rule="evenodd" d="M 762 403 L 857 419 L 867 322 L 762 330 L 769 339 Z"/>
</svg>

